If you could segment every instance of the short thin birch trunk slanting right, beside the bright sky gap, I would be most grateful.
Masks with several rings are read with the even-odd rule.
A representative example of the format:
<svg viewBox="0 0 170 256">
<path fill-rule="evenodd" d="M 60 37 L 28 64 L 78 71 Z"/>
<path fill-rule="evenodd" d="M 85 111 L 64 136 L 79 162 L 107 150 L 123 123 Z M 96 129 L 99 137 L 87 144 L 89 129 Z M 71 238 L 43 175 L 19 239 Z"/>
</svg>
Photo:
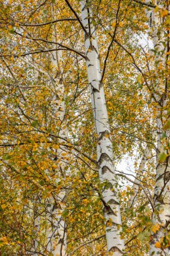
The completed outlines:
<svg viewBox="0 0 170 256">
<path fill-rule="evenodd" d="M 144 156 L 142 157 L 142 160 L 140 161 L 139 167 L 138 167 L 138 171 L 136 173 L 136 177 L 134 179 L 134 185 L 132 187 L 132 192 L 133 194 L 131 195 L 129 201 L 128 201 L 128 207 L 132 207 L 134 205 L 134 202 L 136 201 L 136 197 L 138 196 L 138 189 L 139 186 L 135 183 L 139 183 L 140 180 L 142 179 L 142 175 L 144 172 L 144 166 L 147 162 L 148 159 L 148 155 L 149 155 L 149 150 L 148 147 L 146 146 L 145 150 L 144 150 Z"/>
</svg>

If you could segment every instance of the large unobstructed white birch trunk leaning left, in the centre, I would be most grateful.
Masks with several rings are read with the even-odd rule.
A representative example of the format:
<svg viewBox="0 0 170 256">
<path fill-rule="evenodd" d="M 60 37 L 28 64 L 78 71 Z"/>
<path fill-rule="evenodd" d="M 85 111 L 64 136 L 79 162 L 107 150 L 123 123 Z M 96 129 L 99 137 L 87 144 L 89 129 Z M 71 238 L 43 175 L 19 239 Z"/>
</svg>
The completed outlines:
<svg viewBox="0 0 170 256">
<path fill-rule="evenodd" d="M 122 220 L 117 190 L 118 182 L 116 181 L 113 165 L 113 149 L 108 112 L 101 84 L 97 38 L 95 37 L 95 28 L 89 19 L 89 9 L 86 6 L 86 1 L 81 1 L 81 15 L 83 26 L 87 30 L 87 34 L 85 34 L 86 65 L 93 116 L 98 135 L 97 163 L 99 166 L 99 179 L 101 184 L 103 184 L 101 199 L 103 201 L 106 224 L 106 240 L 108 251 L 113 253 L 114 256 L 120 256 L 124 254 L 124 240 L 120 235 L 122 232 Z"/>
</svg>

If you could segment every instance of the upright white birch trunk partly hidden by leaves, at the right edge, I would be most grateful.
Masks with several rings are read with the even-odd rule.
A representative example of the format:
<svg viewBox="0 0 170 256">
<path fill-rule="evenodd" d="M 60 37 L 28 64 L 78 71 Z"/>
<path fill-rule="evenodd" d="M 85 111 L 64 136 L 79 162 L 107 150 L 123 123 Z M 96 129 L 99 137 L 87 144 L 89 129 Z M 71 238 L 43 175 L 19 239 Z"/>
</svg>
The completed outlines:
<svg viewBox="0 0 170 256">
<path fill-rule="evenodd" d="M 148 1 L 146 1 L 148 2 Z M 157 4 L 157 1 L 155 1 Z M 147 11 L 146 11 L 147 15 Z M 163 28 L 163 18 L 159 11 L 152 11 L 151 33 L 153 36 L 153 44 L 155 50 L 155 90 L 154 96 L 157 100 L 157 168 L 156 183 L 154 191 L 154 207 L 152 221 L 153 225 L 159 225 L 157 232 L 152 232 L 149 255 L 169 255 L 169 249 L 164 243 L 161 248 L 155 247 L 157 242 L 161 242 L 170 230 L 170 162 L 167 157 L 164 162 L 159 162 L 159 154 L 165 152 L 165 146 L 169 140 L 169 131 L 163 130 L 163 125 L 167 120 L 167 89 L 165 85 L 165 76 L 161 74 L 162 69 L 165 73 L 165 30 Z M 166 139 L 163 141 L 163 133 L 166 133 Z"/>
</svg>

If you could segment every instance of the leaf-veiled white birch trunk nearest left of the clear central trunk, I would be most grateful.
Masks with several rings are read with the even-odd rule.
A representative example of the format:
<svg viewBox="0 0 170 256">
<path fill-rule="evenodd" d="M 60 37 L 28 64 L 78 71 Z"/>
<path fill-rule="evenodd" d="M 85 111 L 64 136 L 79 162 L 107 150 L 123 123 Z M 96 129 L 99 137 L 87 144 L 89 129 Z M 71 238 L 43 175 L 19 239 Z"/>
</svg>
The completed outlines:
<svg viewBox="0 0 170 256">
<path fill-rule="evenodd" d="M 53 14 L 53 13 L 52 13 Z M 56 30 L 54 32 L 53 40 L 56 41 Z M 60 67 L 60 61 L 62 59 L 62 52 L 56 51 L 51 55 L 53 82 L 55 84 L 56 95 L 54 95 L 54 113 L 57 123 L 59 121 L 60 127 L 56 125 L 58 129 L 57 135 L 65 139 L 68 138 L 68 129 L 65 123 L 65 86 L 63 84 L 63 73 Z M 59 141 L 58 141 L 59 142 Z M 67 166 L 67 160 L 62 156 L 65 152 L 62 148 L 56 150 L 57 168 L 54 170 L 56 174 L 56 183 L 61 179 L 65 179 L 65 167 Z M 54 175 L 55 175 L 54 174 Z M 47 249 L 53 256 L 65 256 L 67 248 L 67 230 L 65 220 L 62 218 L 62 212 L 65 210 L 65 197 L 66 191 L 62 189 L 58 195 L 51 195 L 48 198 L 48 224 L 46 230 L 47 237 Z"/>
</svg>

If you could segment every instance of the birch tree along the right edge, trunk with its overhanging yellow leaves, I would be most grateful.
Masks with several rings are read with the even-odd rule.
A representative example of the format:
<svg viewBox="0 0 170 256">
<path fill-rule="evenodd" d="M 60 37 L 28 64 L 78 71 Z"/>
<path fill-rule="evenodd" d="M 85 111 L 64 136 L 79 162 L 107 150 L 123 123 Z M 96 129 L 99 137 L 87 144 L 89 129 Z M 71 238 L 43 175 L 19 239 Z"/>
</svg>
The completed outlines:
<svg viewBox="0 0 170 256">
<path fill-rule="evenodd" d="M 169 255 L 169 1 L 155 1 L 153 4 L 155 7 L 146 9 L 147 16 L 151 10 L 151 36 L 155 53 L 153 95 L 157 102 L 157 169 L 153 213 L 153 225 L 157 226 L 157 231 L 151 236 L 150 255 Z"/>
</svg>

